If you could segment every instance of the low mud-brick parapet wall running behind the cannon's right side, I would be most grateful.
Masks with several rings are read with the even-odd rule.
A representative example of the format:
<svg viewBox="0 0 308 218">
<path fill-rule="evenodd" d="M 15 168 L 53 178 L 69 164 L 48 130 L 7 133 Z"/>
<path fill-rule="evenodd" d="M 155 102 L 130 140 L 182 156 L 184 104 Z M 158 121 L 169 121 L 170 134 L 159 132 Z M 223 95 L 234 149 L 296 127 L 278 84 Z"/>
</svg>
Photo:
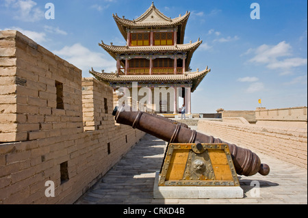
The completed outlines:
<svg viewBox="0 0 308 218">
<path fill-rule="evenodd" d="M 307 128 L 231 124 L 200 120 L 198 130 L 307 169 Z"/>
</svg>

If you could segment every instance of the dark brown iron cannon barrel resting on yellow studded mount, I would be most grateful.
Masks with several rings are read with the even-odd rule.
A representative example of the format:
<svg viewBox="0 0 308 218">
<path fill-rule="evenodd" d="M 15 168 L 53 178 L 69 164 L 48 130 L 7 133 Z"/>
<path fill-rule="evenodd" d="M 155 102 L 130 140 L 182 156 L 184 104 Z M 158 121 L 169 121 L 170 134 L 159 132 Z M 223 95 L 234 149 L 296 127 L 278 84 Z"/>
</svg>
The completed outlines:
<svg viewBox="0 0 308 218">
<path fill-rule="evenodd" d="M 168 120 L 157 118 L 155 115 L 141 111 L 125 111 L 123 107 L 116 107 L 112 113 L 118 124 L 125 124 L 149 133 L 169 143 L 214 143 L 227 144 L 231 152 L 235 171 L 239 175 L 253 176 L 259 172 L 263 176 L 270 173 L 270 167 L 262 164 L 259 156 L 251 150 L 226 143 L 212 136 L 198 133 L 181 124 L 174 124 Z"/>
</svg>

